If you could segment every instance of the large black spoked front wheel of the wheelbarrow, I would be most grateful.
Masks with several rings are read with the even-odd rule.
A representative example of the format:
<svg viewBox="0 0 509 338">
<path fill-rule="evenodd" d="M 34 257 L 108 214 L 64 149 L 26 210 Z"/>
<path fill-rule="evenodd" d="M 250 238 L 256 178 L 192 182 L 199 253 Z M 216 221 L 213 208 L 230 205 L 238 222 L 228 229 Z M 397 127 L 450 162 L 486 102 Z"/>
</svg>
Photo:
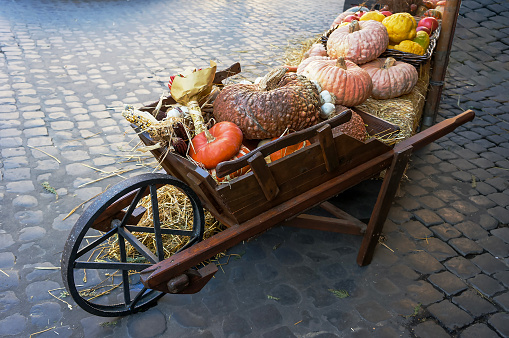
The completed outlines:
<svg viewBox="0 0 509 338">
<path fill-rule="evenodd" d="M 163 200 L 169 191 L 176 200 Z M 144 310 L 164 293 L 146 289 L 138 273 L 172 254 L 167 241 L 177 242 L 176 252 L 201 241 L 204 224 L 198 196 L 173 176 L 124 180 L 98 196 L 72 228 L 61 261 L 64 285 L 94 315 Z"/>
</svg>

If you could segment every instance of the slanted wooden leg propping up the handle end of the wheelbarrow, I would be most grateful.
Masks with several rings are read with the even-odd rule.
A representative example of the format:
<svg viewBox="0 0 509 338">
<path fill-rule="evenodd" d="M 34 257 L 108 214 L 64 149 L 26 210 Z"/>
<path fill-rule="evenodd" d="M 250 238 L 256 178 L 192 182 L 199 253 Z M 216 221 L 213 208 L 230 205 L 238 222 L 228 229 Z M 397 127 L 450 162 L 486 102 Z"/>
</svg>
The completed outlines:
<svg viewBox="0 0 509 338">
<path fill-rule="evenodd" d="M 394 154 L 391 166 L 387 169 L 382 187 L 378 193 L 378 198 L 369 219 L 368 228 L 362 239 L 361 248 L 357 255 L 357 264 L 360 266 L 368 265 L 373 258 L 378 238 L 389 214 L 392 201 L 398 190 L 399 182 L 406 165 L 412 154 L 412 147 L 406 147 Z"/>
</svg>

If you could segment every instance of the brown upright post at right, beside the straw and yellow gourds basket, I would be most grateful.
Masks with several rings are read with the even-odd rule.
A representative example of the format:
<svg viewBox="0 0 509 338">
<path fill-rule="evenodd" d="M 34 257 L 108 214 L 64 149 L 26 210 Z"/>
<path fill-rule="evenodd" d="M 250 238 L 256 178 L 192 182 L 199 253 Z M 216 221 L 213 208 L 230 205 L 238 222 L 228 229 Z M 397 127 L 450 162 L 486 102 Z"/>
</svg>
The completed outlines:
<svg viewBox="0 0 509 338">
<path fill-rule="evenodd" d="M 445 74 L 449 63 L 449 55 L 451 53 L 452 40 L 454 38 L 454 30 L 456 21 L 458 20 L 461 0 L 448 0 L 445 6 L 442 18 L 442 28 L 440 37 L 432 59 L 432 73 L 429 82 L 429 90 L 424 104 L 422 114 L 421 129 L 426 129 L 435 124 L 438 106 L 440 105 L 440 96 L 444 86 Z"/>
</svg>

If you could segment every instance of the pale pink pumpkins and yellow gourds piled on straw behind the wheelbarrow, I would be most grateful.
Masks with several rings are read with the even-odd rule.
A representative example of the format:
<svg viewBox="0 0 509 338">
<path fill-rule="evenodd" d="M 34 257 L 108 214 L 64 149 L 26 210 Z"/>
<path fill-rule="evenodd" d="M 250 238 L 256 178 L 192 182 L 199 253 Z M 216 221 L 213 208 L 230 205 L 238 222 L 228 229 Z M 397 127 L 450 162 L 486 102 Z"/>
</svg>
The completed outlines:
<svg viewBox="0 0 509 338">
<path fill-rule="evenodd" d="M 418 80 L 415 67 L 379 56 L 388 47 L 424 54 L 438 27 L 431 15 L 417 23 L 409 13 L 354 7 L 334 20 L 326 46 L 311 46 L 297 74 L 316 80 L 344 106 L 359 105 L 370 96 L 383 100 L 408 94 Z"/>
</svg>

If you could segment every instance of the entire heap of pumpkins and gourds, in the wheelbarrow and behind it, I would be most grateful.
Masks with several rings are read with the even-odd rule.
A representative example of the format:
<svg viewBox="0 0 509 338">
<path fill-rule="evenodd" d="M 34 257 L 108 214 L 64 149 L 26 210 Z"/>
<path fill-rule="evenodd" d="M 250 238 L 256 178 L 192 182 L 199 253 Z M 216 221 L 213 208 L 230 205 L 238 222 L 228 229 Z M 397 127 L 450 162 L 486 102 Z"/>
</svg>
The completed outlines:
<svg viewBox="0 0 509 338">
<path fill-rule="evenodd" d="M 349 20 L 352 14 L 358 20 Z M 393 58 L 378 58 L 390 43 L 418 44 L 409 40 L 417 35 L 418 27 L 410 14 L 349 10 L 338 16 L 333 26 L 327 48 L 313 45 L 295 69 L 280 67 L 254 83 L 235 83 L 213 91 L 210 101 L 215 124 L 203 131 L 190 125 L 194 132 L 181 131 L 177 138 L 172 135 L 169 144 L 173 150 L 209 170 L 218 182 L 229 180 L 246 173 L 249 167 L 218 178 L 215 168 L 220 162 L 237 159 L 260 144 L 326 120 L 335 114 L 337 106 L 356 106 L 370 96 L 394 98 L 413 89 L 418 80 L 414 66 Z M 427 35 L 425 30 L 421 32 Z M 174 126 L 175 117 L 171 111 L 167 115 Z M 124 116 L 130 116 L 130 122 L 139 121 L 134 112 Z M 195 127 L 205 126 L 203 119 L 194 118 Z M 364 122 L 357 114 L 336 132 L 361 141 L 367 136 Z M 306 145 L 309 142 L 282 149 L 267 161 L 277 161 Z"/>
</svg>

